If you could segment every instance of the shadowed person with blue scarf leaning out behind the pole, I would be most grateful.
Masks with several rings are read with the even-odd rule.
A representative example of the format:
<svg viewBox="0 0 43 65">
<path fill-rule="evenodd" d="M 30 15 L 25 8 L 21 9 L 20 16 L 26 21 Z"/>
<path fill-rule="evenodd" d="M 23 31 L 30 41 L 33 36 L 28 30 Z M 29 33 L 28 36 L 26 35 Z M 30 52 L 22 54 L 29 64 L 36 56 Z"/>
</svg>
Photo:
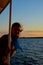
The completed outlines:
<svg viewBox="0 0 43 65">
<path fill-rule="evenodd" d="M 13 23 L 11 28 L 11 48 L 8 47 L 8 34 L 0 38 L 0 65 L 8 65 L 7 57 L 9 53 L 10 57 L 12 57 L 15 55 L 17 48 L 22 50 L 17 42 L 20 32 L 22 32 L 21 24 L 18 22 Z"/>
</svg>

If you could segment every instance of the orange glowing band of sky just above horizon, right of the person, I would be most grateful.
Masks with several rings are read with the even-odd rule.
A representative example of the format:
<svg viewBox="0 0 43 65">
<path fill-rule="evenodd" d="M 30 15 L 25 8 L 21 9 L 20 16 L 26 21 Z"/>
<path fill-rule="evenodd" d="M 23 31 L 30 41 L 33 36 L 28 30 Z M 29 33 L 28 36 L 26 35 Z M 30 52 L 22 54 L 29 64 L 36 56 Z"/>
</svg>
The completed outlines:
<svg viewBox="0 0 43 65">
<path fill-rule="evenodd" d="M 22 32 L 22 37 L 43 37 L 43 32 Z"/>
</svg>

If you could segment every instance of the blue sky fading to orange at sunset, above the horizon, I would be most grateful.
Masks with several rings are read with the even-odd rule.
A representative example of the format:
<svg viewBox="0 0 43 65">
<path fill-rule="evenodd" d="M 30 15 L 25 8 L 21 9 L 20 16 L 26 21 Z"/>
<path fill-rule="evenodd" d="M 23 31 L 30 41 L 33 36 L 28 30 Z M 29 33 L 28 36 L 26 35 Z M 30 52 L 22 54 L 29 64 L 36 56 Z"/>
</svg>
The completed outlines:
<svg viewBox="0 0 43 65">
<path fill-rule="evenodd" d="M 0 35 L 8 32 L 9 5 L 0 14 Z M 43 37 L 43 0 L 12 0 L 12 23 L 23 25 L 21 36 Z"/>
</svg>

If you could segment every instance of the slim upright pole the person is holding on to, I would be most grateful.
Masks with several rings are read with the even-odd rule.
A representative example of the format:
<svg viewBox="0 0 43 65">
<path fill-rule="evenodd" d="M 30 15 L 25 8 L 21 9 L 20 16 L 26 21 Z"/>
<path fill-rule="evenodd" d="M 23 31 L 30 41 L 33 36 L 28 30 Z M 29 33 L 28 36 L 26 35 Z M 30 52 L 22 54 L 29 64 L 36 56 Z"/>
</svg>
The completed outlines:
<svg viewBox="0 0 43 65">
<path fill-rule="evenodd" d="M 10 10 L 9 10 L 9 36 L 8 36 L 9 48 L 11 48 L 11 14 L 12 14 L 12 0 L 10 0 Z M 8 64 L 10 65 L 10 53 L 8 54 Z"/>
</svg>

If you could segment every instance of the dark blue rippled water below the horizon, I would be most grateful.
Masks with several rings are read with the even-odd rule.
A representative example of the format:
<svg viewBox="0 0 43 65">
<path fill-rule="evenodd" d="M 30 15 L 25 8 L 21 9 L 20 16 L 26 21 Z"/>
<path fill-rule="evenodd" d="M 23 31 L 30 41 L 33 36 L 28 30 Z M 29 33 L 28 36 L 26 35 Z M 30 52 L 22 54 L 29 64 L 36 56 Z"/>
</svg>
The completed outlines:
<svg viewBox="0 0 43 65">
<path fill-rule="evenodd" d="M 19 44 L 23 52 L 17 50 L 12 65 L 43 65 L 43 39 L 22 38 Z"/>
</svg>

